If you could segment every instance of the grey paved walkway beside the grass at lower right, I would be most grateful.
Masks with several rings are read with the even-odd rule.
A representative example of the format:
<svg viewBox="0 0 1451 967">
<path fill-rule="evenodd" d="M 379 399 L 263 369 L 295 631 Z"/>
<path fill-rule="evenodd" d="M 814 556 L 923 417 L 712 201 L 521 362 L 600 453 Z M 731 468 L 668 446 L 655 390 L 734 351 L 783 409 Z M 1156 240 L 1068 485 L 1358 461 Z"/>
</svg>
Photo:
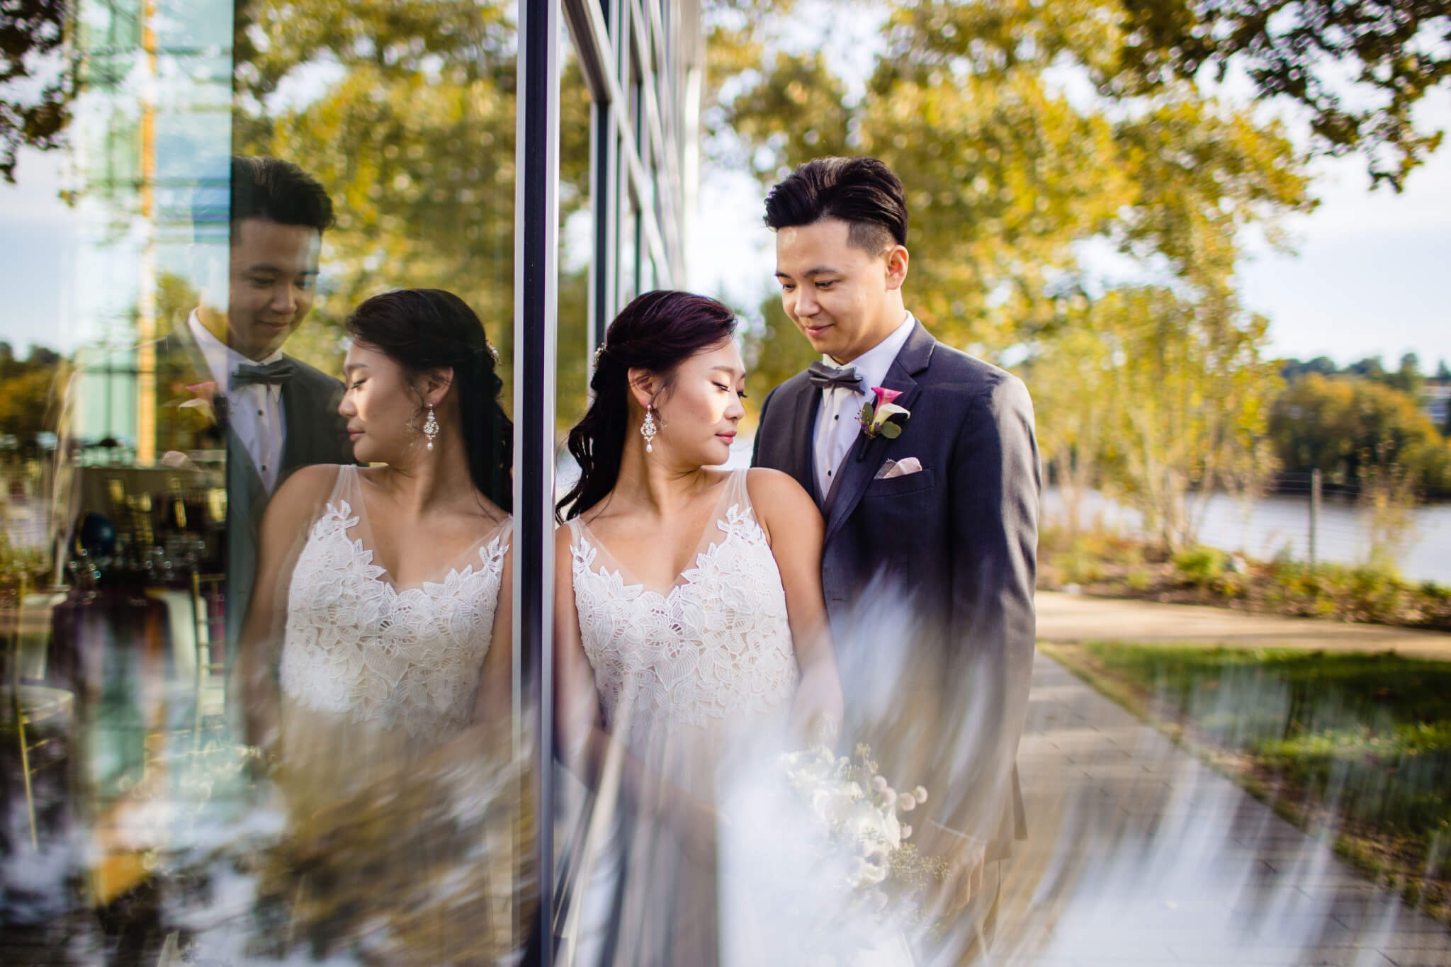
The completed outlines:
<svg viewBox="0 0 1451 967">
<path fill-rule="evenodd" d="M 1042 654 L 1019 765 L 992 963 L 1451 964 L 1451 931 Z"/>
</svg>

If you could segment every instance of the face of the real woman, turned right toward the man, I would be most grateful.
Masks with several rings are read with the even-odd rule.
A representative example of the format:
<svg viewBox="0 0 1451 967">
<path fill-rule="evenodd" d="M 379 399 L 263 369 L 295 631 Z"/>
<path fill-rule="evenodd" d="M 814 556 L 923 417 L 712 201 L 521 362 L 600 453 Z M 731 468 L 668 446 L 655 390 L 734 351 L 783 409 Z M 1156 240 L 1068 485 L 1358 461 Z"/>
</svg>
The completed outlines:
<svg viewBox="0 0 1451 967">
<path fill-rule="evenodd" d="M 746 365 L 734 341 L 724 339 L 675 368 L 656 400 L 660 432 L 654 454 L 673 464 L 717 467 L 730 458 L 736 425 L 746 415 Z"/>
</svg>

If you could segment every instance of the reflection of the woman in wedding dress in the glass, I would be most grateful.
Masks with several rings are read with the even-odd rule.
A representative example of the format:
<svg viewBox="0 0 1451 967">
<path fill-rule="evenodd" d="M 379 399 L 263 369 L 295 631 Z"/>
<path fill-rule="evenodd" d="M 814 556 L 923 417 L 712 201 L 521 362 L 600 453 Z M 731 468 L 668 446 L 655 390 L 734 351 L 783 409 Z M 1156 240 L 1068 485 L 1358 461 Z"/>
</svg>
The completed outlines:
<svg viewBox="0 0 1451 967">
<path fill-rule="evenodd" d="M 483 323 L 457 296 L 422 289 L 369 299 L 347 329 L 340 413 L 363 465 L 303 467 L 271 499 L 234 683 L 295 845 L 335 839 L 380 802 L 387 838 L 406 841 L 422 819 L 398 815 L 399 797 L 421 783 L 400 771 L 460 742 L 454 765 L 479 760 L 480 734 L 511 709 L 512 428 Z M 299 877 L 295 895 L 325 921 L 325 900 L 347 909 L 344 890 L 360 886 L 345 867 L 418 879 L 447 860 L 431 850 L 389 870 L 398 857 L 383 861 L 382 847 L 318 848 L 328 876 Z M 376 880 L 367 892 L 403 906 Z M 347 929 L 325 925 L 328 939 Z"/>
</svg>

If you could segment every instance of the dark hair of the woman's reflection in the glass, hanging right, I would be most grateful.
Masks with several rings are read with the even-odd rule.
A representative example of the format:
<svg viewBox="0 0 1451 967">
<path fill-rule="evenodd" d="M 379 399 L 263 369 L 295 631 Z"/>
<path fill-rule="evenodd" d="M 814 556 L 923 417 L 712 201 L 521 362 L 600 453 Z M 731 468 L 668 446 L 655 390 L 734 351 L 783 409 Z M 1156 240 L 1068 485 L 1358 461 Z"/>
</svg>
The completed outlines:
<svg viewBox="0 0 1451 967">
<path fill-rule="evenodd" d="M 483 496 L 511 512 L 514 423 L 499 406 L 503 381 L 473 309 L 441 289 L 399 289 L 366 300 L 344 325 L 409 375 L 453 367 L 469 476 Z"/>
</svg>

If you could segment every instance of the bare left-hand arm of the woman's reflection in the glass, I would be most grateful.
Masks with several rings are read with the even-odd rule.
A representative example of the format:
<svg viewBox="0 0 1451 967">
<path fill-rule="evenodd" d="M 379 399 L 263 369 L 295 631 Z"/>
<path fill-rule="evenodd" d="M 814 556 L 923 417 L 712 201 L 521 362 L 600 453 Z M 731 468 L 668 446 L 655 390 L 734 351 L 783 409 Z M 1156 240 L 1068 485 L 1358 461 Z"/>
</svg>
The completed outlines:
<svg viewBox="0 0 1451 967">
<path fill-rule="evenodd" d="M 248 745 L 268 748 L 277 739 L 277 661 L 287 626 L 287 586 L 337 476 L 338 468 L 331 464 L 300 467 L 277 489 L 263 515 L 252 600 L 242 621 L 226 696 L 228 718 L 241 722 Z"/>
</svg>

